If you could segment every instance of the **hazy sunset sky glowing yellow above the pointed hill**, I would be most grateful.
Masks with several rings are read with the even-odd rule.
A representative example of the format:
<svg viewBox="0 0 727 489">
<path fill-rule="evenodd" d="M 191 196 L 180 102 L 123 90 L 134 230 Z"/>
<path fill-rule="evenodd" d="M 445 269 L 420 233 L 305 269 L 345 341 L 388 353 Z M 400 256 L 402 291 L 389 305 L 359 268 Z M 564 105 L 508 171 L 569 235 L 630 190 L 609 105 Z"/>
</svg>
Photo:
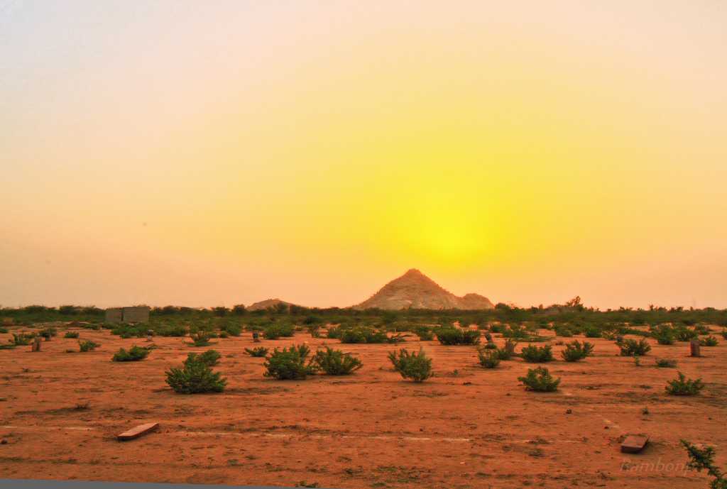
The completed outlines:
<svg viewBox="0 0 727 489">
<path fill-rule="evenodd" d="M 0 0 L 0 305 L 727 307 L 727 3 Z"/>
</svg>

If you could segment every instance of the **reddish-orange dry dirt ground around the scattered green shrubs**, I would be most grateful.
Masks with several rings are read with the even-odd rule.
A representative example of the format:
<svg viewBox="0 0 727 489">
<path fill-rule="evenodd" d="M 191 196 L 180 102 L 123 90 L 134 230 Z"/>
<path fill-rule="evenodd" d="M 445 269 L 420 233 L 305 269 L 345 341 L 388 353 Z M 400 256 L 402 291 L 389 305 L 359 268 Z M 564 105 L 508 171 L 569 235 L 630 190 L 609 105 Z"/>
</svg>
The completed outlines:
<svg viewBox="0 0 727 489">
<path fill-rule="evenodd" d="M 548 366 L 562 378 L 555 393 L 526 392 L 521 359 L 494 370 L 478 366 L 473 347 L 425 348 L 437 376 L 423 384 L 390 369 L 387 344 L 344 344 L 297 333 L 264 346 L 332 344 L 364 363 L 352 376 L 275 381 L 264 359 L 244 355 L 249 334 L 214 340 L 228 379 L 221 394 L 179 395 L 164 371 L 203 348 L 188 339 L 155 338 L 141 362 L 113 363 L 119 347 L 145 344 L 108 331 L 79 331 L 102 346 L 78 349 L 65 328 L 41 352 L 0 350 L 0 478 L 77 479 L 322 488 L 707 488 L 686 472 L 680 438 L 715 445 L 727 462 L 727 342 L 688 357 L 688 345 L 661 346 L 637 367 L 605 339 L 595 356 Z M 551 334 L 542 331 L 542 334 Z M 1 334 L 6 343 L 9 334 Z M 569 341 L 566 339 L 565 341 Z M 502 344 L 502 339 L 496 339 Z M 561 346 L 554 350 L 560 359 Z M 519 347 L 518 347 L 519 351 Z M 701 395 L 664 392 L 678 360 L 706 383 Z M 84 405 L 87 407 L 84 408 Z M 77 408 L 79 406 L 80 408 Z M 644 408 L 648 412 L 644 412 Z M 160 429 L 129 442 L 116 435 L 148 421 Z M 619 451 L 627 433 L 651 443 L 638 455 Z"/>
</svg>

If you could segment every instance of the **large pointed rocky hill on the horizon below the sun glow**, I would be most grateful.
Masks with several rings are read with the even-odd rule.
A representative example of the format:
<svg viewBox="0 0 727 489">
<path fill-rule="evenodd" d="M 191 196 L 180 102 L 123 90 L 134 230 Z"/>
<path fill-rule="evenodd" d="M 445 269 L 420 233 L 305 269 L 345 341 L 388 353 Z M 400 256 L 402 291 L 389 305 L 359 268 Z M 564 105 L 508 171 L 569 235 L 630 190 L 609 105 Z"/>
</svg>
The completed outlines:
<svg viewBox="0 0 727 489">
<path fill-rule="evenodd" d="M 434 280 L 412 268 L 395 278 L 354 309 L 376 307 L 386 310 L 401 309 L 492 309 L 494 304 L 485 296 L 466 294 L 458 297 L 438 285 Z"/>
</svg>

